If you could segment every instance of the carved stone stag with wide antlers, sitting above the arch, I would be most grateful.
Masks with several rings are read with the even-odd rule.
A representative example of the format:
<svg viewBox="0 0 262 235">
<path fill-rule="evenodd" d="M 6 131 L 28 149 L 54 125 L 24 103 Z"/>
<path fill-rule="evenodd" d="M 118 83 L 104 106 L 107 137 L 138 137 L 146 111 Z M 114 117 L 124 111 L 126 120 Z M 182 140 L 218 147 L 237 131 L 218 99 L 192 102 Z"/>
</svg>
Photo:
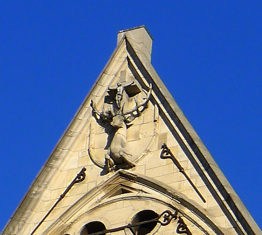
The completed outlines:
<svg viewBox="0 0 262 235">
<path fill-rule="evenodd" d="M 144 89 L 143 89 L 144 90 Z M 116 132 L 108 148 L 107 154 L 105 154 L 105 169 L 110 172 L 113 168 L 132 168 L 135 166 L 133 162 L 133 155 L 130 145 L 126 139 L 127 136 L 127 126 L 126 123 L 134 120 L 136 116 L 139 116 L 141 111 L 147 107 L 148 100 L 150 98 L 152 91 L 152 85 L 150 84 L 149 91 L 145 92 L 146 97 L 143 101 L 139 103 L 136 98 L 134 98 L 135 106 L 134 108 L 124 111 L 124 104 L 121 107 L 118 106 L 114 109 L 111 105 L 110 111 L 105 111 L 104 105 L 102 106 L 102 112 L 98 111 L 93 101 L 91 101 L 91 106 L 93 112 L 100 116 L 100 120 L 103 122 L 110 122 L 111 126 L 115 128 Z M 139 110 L 143 106 L 144 109 Z M 135 113 L 136 112 L 136 113 Z"/>
</svg>

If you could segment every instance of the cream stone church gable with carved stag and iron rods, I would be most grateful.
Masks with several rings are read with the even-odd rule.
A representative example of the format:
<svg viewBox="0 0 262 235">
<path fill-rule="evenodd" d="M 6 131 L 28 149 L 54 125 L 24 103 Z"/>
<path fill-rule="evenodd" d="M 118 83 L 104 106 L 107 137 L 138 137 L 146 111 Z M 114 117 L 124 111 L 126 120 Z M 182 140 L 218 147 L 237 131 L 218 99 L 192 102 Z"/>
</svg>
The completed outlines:
<svg viewBox="0 0 262 235">
<path fill-rule="evenodd" d="M 1 235 L 262 235 L 151 65 L 117 47 Z"/>
</svg>

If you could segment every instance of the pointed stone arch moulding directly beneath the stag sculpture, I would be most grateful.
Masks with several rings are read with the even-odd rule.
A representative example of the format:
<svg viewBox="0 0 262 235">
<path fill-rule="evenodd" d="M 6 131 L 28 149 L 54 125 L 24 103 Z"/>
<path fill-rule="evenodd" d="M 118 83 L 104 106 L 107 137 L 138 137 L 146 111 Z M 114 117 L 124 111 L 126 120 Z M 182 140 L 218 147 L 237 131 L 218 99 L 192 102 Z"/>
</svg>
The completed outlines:
<svg viewBox="0 0 262 235">
<path fill-rule="evenodd" d="M 128 182 L 132 182 L 132 186 L 137 187 L 138 190 L 143 187 L 143 190 L 146 193 L 127 193 L 111 197 L 116 185 L 128 184 Z M 216 225 L 216 219 L 210 215 L 208 211 L 168 185 L 150 177 L 131 173 L 127 170 L 118 170 L 110 178 L 101 182 L 99 185 L 93 187 L 90 191 L 84 194 L 61 216 L 59 216 L 59 218 L 49 226 L 42 235 L 64 234 L 70 227 L 75 227 L 75 223 L 82 220 L 86 215 L 88 215 L 88 213 L 91 213 L 98 208 L 119 200 L 137 199 L 155 201 L 164 204 L 173 210 L 178 210 L 180 214 L 190 221 L 193 221 L 193 223 L 203 231 L 203 227 L 201 227 L 197 222 L 199 218 L 205 221 L 206 225 L 215 231 L 216 234 L 227 234 L 226 229 Z M 187 213 L 184 213 L 184 211 L 191 211 L 195 218 L 190 217 Z"/>
</svg>

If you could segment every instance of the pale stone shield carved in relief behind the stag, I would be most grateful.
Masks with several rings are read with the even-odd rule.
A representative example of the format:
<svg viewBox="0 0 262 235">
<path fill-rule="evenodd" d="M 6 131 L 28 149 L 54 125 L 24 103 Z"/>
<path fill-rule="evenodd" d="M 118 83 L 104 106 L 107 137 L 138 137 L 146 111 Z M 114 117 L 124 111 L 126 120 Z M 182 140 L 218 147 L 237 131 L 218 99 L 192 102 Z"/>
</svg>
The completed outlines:
<svg viewBox="0 0 262 235">
<path fill-rule="evenodd" d="M 142 92 L 141 92 L 142 93 Z M 144 94 L 138 94 L 128 99 L 124 109 L 135 106 L 135 99 L 143 99 Z M 158 108 L 150 101 L 141 113 L 131 114 L 134 120 L 126 124 L 126 140 L 132 152 L 132 161 L 139 162 L 152 148 L 159 131 Z M 105 166 L 105 155 L 108 153 L 115 129 L 110 122 L 93 119 L 90 123 L 88 153 L 93 163 L 100 168 Z M 125 167 L 120 167 L 125 169 Z"/>
</svg>

